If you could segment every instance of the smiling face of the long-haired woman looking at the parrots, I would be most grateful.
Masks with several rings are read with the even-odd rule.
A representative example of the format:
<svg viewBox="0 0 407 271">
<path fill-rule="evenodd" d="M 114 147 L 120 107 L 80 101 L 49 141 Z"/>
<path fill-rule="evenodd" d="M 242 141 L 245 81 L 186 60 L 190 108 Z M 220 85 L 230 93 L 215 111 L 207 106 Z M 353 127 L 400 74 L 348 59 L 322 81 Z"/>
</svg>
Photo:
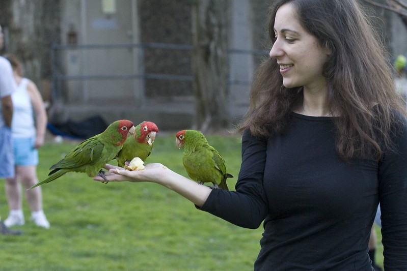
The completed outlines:
<svg viewBox="0 0 407 271">
<path fill-rule="evenodd" d="M 322 76 L 322 67 L 329 50 L 319 45 L 316 37 L 304 29 L 297 17 L 290 3 L 277 10 L 274 24 L 276 39 L 270 57 L 276 58 L 280 65 L 285 87 L 304 86 L 304 91 L 324 90 L 327 81 Z"/>
</svg>

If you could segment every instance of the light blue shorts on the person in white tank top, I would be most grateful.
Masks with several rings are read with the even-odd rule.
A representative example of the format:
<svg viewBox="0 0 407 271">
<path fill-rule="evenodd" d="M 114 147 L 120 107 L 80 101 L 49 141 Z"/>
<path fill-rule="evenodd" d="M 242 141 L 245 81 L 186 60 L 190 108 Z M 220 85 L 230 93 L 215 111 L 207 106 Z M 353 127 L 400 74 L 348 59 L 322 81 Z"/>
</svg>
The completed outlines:
<svg viewBox="0 0 407 271">
<path fill-rule="evenodd" d="M 35 137 L 13 138 L 14 159 L 17 166 L 38 165 L 38 149 L 34 148 Z"/>
</svg>

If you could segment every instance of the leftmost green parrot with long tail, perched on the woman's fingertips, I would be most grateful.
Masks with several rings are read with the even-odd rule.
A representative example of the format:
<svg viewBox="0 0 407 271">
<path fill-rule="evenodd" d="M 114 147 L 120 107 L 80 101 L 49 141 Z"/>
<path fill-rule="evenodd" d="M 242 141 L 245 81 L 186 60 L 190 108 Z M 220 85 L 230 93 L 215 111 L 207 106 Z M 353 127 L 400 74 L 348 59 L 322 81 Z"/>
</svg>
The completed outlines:
<svg viewBox="0 0 407 271">
<path fill-rule="evenodd" d="M 122 148 L 127 136 L 134 134 L 134 124 L 121 119 L 109 125 L 102 133 L 86 139 L 73 148 L 61 161 L 52 165 L 48 177 L 29 188 L 49 183 L 67 172 L 85 172 L 89 177 L 104 176 L 103 166 L 113 160 Z"/>
</svg>

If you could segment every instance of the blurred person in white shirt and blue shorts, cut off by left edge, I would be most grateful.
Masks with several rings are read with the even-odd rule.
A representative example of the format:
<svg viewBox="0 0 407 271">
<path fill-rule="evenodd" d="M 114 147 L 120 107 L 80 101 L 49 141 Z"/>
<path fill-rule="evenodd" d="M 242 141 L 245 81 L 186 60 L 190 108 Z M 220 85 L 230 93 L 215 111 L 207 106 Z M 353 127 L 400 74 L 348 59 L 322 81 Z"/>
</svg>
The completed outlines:
<svg viewBox="0 0 407 271">
<path fill-rule="evenodd" d="M 4 34 L 0 25 L 0 49 L 3 48 Z M 11 123 L 13 118 L 13 102 L 11 95 L 16 85 L 13 80 L 13 71 L 6 58 L 0 56 L 0 178 L 10 178 L 15 175 L 13 141 L 11 137 Z M 20 234 L 20 231 L 10 230 L 0 219 L 1 234 Z"/>
</svg>

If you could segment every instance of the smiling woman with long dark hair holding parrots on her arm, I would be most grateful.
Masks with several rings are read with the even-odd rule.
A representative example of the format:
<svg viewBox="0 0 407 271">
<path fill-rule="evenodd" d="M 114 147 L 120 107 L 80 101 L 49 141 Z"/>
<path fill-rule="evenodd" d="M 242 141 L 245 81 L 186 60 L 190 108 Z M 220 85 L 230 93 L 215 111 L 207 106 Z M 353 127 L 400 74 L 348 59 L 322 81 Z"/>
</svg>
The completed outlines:
<svg viewBox="0 0 407 271">
<path fill-rule="evenodd" d="M 407 270 L 407 124 L 366 16 L 354 0 L 276 0 L 269 35 L 235 192 L 160 164 L 106 165 L 108 179 L 166 186 L 241 227 L 264 221 L 255 270 L 372 270 L 380 202 L 385 268 Z"/>
</svg>

